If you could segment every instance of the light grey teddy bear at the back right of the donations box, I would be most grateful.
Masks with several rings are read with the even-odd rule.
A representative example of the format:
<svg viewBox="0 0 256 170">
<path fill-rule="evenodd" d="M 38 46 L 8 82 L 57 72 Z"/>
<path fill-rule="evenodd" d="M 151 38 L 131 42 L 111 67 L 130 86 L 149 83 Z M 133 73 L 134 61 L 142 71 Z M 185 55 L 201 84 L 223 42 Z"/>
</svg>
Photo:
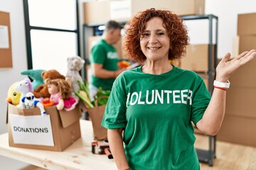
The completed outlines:
<svg viewBox="0 0 256 170">
<path fill-rule="evenodd" d="M 72 91 L 80 91 L 80 87 L 78 85 L 78 81 L 82 82 L 82 77 L 79 74 L 80 69 L 82 69 L 85 64 L 85 60 L 83 60 L 79 56 L 68 57 L 68 72 L 66 77 L 71 79 L 72 82 Z"/>
</svg>

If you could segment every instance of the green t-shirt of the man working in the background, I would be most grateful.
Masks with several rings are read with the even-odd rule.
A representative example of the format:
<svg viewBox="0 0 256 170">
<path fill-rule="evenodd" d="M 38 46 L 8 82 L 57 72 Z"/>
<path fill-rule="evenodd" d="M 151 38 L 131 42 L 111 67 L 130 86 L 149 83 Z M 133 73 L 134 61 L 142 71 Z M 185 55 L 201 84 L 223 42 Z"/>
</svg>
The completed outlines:
<svg viewBox="0 0 256 170">
<path fill-rule="evenodd" d="M 91 50 L 91 63 L 102 64 L 103 69 L 110 71 L 117 71 L 117 62 L 119 61 L 119 56 L 117 50 L 113 45 L 107 44 L 103 39 L 100 39 L 92 47 Z M 92 85 L 97 88 L 102 87 L 103 90 L 111 90 L 114 79 L 102 79 L 92 75 Z"/>
</svg>

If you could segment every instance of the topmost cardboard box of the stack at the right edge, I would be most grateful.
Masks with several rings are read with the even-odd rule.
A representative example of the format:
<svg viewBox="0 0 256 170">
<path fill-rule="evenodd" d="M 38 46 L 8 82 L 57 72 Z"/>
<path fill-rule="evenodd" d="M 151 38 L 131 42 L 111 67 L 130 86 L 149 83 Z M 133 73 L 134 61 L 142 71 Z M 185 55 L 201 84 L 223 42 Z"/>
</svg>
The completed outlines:
<svg viewBox="0 0 256 170">
<path fill-rule="evenodd" d="M 238 35 L 256 35 L 256 13 L 238 15 Z"/>
</svg>

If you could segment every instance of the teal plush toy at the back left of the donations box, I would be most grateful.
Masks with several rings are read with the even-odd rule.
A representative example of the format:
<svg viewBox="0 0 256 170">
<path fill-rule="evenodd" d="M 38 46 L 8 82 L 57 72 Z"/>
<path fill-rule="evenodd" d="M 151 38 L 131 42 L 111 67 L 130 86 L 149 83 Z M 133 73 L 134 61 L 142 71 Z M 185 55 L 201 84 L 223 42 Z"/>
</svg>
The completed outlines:
<svg viewBox="0 0 256 170">
<path fill-rule="evenodd" d="M 21 72 L 21 75 L 27 75 L 31 78 L 33 89 L 36 89 L 39 85 L 43 84 L 42 72 L 43 69 L 28 69 L 26 71 Z"/>
</svg>

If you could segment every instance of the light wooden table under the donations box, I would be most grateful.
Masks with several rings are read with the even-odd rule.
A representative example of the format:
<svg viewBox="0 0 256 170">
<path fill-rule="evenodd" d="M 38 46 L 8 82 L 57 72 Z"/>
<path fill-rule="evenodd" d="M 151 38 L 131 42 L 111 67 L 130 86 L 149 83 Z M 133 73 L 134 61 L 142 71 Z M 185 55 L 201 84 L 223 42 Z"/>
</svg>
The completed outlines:
<svg viewBox="0 0 256 170">
<path fill-rule="evenodd" d="M 8 133 L 0 135 L 0 154 L 45 169 L 117 169 L 105 154 L 92 154 L 92 123 L 80 120 L 82 137 L 63 152 L 9 147 Z"/>
</svg>

